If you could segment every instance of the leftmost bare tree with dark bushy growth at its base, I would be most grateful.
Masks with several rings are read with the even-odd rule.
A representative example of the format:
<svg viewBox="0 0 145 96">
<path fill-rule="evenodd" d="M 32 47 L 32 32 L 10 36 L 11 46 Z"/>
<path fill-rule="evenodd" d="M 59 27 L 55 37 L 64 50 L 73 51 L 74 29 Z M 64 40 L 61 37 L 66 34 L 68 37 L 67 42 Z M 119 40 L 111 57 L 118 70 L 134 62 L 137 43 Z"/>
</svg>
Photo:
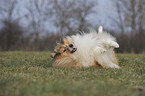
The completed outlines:
<svg viewBox="0 0 145 96">
<path fill-rule="evenodd" d="M 22 27 L 15 18 L 17 0 L 0 1 L 0 17 L 3 27 L 0 30 L 0 46 L 2 50 L 14 50 L 20 45 Z"/>
</svg>

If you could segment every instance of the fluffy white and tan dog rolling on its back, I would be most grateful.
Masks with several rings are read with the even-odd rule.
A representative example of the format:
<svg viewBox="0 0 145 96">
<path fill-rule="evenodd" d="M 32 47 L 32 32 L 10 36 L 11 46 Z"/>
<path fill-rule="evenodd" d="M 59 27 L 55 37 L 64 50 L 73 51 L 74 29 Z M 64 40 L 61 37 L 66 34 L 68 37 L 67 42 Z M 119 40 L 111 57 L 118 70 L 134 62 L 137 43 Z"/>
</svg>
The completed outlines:
<svg viewBox="0 0 145 96">
<path fill-rule="evenodd" d="M 89 33 L 67 36 L 57 46 L 51 57 L 55 68 L 120 68 L 113 51 L 119 48 L 115 37 L 98 28 Z"/>
</svg>

